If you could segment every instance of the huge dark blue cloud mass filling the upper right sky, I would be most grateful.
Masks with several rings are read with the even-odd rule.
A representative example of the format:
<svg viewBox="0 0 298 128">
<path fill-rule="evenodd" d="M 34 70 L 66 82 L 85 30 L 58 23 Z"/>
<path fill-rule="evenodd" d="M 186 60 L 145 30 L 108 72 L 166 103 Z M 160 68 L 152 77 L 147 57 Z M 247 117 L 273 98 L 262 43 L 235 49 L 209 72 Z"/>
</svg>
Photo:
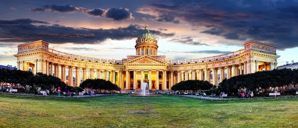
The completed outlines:
<svg viewBox="0 0 298 128">
<path fill-rule="evenodd" d="M 172 0 L 137 12 L 159 22 L 205 26 L 201 33 L 228 40 L 256 40 L 278 49 L 298 47 L 297 0 Z"/>
</svg>

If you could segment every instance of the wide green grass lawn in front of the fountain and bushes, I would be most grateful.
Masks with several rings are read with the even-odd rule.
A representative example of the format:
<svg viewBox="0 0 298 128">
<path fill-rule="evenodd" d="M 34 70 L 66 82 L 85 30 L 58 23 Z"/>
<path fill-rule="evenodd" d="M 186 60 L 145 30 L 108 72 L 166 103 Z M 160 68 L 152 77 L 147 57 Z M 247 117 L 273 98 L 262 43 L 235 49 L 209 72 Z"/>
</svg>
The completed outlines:
<svg viewBox="0 0 298 128">
<path fill-rule="evenodd" d="M 298 98 L 50 98 L 0 94 L 0 128 L 298 128 Z"/>
</svg>

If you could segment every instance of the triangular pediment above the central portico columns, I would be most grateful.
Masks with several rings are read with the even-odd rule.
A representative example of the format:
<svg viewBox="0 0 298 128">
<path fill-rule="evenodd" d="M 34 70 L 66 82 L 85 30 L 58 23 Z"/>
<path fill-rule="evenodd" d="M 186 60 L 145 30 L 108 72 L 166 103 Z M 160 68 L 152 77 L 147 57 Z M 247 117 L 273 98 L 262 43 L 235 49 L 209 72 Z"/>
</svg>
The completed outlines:
<svg viewBox="0 0 298 128">
<path fill-rule="evenodd" d="M 133 59 L 131 61 L 128 61 L 125 64 L 167 64 L 167 63 L 159 59 L 145 55 L 145 56 L 141 56 L 136 59 Z"/>
</svg>

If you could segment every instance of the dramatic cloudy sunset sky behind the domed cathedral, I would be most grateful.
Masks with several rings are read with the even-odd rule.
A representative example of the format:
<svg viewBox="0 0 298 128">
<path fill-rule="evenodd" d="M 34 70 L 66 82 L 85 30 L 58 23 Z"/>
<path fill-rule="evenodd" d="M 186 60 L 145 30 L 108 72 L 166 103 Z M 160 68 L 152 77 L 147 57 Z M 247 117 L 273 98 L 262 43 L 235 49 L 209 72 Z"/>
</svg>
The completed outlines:
<svg viewBox="0 0 298 128">
<path fill-rule="evenodd" d="M 158 55 L 202 58 L 254 40 L 277 46 L 278 66 L 298 61 L 298 0 L 1 0 L 0 65 L 17 45 L 45 40 L 59 51 L 121 60 L 135 55 L 145 24 Z"/>
</svg>

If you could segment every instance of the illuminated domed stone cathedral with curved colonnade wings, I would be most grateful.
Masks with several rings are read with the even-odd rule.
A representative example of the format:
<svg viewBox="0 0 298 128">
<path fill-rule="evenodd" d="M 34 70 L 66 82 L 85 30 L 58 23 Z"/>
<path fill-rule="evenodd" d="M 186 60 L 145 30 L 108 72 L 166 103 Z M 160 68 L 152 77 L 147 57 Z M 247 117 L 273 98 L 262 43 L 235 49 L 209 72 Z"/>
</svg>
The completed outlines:
<svg viewBox="0 0 298 128">
<path fill-rule="evenodd" d="M 123 90 L 140 89 L 148 83 L 150 90 L 170 90 L 186 80 L 204 80 L 218 85 L 225 78 L 273 70 L 277 65 L 276 46 L 245 42 L 238 51 L 227 54 L 171 60 L 157 55 L 157 41 L 146 25 L 136 40 L 136 55 L 122 60 L 87 57 L 58 51 L 43 40 L 18 45 L 17 69 L 53 75 L 71 86 L 86 79 L 105 79 Z"/>
</svg>

